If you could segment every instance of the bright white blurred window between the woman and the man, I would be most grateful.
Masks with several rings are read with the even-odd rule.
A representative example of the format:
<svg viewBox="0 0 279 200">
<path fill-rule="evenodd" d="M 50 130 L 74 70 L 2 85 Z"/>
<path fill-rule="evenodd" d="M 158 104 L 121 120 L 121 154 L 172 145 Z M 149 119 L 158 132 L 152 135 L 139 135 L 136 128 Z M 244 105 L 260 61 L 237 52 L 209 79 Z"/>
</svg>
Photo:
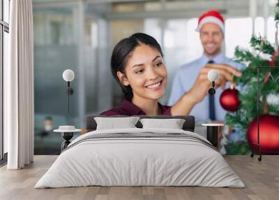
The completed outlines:
<svg viewBox="0 0 279 200">
<path fill-rule="evenodd" d="M 199 33 L 195 31 L 197 18 L 167 20 L 165 26 L 164 53 L 167 64 L 167 87 L 160 102 L 167 104 L 172 90 L 172 81 L 179 66 L 202 55 Z"/>
</svg>

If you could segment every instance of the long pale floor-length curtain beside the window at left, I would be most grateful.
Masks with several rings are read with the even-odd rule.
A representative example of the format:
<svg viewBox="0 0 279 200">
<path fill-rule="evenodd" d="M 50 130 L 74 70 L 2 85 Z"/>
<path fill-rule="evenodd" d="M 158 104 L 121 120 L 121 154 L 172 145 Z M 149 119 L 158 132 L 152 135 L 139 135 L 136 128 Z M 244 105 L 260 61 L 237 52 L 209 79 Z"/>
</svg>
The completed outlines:
<svg viewBox="0 0 279 200">
<path fill-rule="evenodd" d="M 33 13 L 31 0 L 10 1 L 10 50 L 4 69 L 7 169 L 33 162 Z"/>
</svg>

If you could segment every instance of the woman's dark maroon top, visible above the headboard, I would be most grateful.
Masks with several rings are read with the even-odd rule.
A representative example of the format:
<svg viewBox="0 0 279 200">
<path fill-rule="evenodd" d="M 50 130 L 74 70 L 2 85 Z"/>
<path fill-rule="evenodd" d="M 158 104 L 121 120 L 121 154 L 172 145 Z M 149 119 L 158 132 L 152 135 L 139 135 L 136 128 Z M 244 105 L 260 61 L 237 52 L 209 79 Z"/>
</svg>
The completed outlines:
<svg viewBox="0 0 279 200">
<path fill-rule="evenodd" d="M 160 110 L 162 115 L 172 115 L 170 113 L 171 106 L 163 106 L 160 103 L 158 103 L 160 106 Z M 146 115 L 142 109 L 135 106 L 134 103 L 124 100 L 118 108 L 112 108 L 110 110 L 106 110 L 103 113 L 100 113 L 100 115 L 106 115 L 106 116 L 112 116 L 112 115 Z"/>
</svg>

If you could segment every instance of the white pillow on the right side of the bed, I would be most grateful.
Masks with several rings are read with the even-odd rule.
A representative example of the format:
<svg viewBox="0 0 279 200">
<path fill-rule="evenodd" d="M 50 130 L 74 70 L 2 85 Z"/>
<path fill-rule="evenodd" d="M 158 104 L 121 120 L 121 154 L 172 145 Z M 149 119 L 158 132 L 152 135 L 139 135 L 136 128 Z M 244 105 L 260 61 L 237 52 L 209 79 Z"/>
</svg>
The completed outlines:
<svg viewBox="0 0 279 200">
<path fill-rule="evenodd" d="M 163 128 L 163 129 L 182 129 L 185 120 L 183 119 L 140 119 L 142 128 Z"/>
</svg>

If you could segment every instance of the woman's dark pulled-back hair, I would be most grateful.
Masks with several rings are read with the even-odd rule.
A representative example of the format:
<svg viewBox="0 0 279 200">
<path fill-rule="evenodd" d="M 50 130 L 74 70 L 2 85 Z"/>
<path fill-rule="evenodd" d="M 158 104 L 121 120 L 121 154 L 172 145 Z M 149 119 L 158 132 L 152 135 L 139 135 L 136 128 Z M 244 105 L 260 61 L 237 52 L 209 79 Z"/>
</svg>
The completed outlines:
<svg viewBox="0 0 279 200">
<path fill-rule="evenodd" d="M 128 57 L 130 57 L 135 48 L 141 45 L 141 43 L 149 45 L 151 48 L 155 48 L 163 57 L 162 49 L 155 38 L 147 34 L 137 33 L 128 38 L 123 38 L 121 41 L 119 41 L 119 43 L 117 43 L 114 47 L 114 50 L 112 52 L 112 59 L 110 60 L 112 76 L 114 76 L 117 83 L 119 83 L 120 87 L 123 90 L 124 97 L 128 101 L 131 101 L 133 98 L 133 90 L 130 85 L 125 86 L 121 83 L 121 81 L 117 77 L 117 71 L 126 74 L 125 66 L 127 64 Z"/>
</svg>

